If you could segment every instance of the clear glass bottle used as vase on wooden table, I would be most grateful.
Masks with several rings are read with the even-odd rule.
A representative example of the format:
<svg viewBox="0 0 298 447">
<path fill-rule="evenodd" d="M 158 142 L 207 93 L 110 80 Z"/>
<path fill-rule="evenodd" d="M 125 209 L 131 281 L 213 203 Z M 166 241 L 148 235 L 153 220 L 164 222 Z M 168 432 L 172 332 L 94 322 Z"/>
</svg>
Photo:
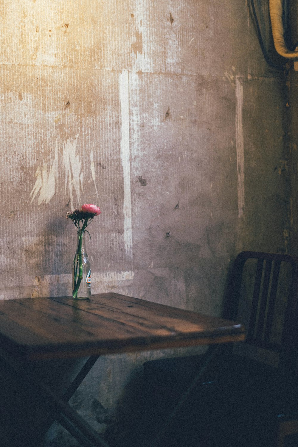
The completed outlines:
<svg viewBox="0 0 298 447">
<path fill-rule="evenodd" d="M 72 266 L 72 296 L 88 299 L 91 296 L 91 269 L 85 252 L 85 231 L 77 232 L 77 251 Z"/>
</svg>

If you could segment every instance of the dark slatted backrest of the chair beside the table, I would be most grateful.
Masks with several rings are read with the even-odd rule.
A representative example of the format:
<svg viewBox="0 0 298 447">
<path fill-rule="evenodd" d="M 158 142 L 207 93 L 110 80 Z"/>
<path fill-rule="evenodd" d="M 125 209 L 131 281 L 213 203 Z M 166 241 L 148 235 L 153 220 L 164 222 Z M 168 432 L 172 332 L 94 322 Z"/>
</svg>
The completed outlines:
<svg viewBox="0 0 298 447">
<path fill-rule="evenodd" d="M 224 316 L 244 323 L 237 354 L 294 373 L 298 346 L 298 257 L 244 251 L 235 259 Z"/>
</svg>

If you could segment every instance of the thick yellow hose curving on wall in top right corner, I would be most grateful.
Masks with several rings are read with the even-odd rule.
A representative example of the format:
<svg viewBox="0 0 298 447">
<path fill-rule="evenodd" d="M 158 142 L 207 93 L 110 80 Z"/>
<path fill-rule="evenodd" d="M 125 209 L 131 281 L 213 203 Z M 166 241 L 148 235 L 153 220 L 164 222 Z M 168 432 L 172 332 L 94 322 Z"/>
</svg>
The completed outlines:
<svg viewBox="0 0 298 447">
<path fill-rule="evenodd" d="M 282 0 L 269 0 L 269 11 L 273 42 L 277 53 L 286 59 L 298 59 L 298 52 L 290 51 L 285 45 L 284 27 L 282 24 Z"/>
</svg>

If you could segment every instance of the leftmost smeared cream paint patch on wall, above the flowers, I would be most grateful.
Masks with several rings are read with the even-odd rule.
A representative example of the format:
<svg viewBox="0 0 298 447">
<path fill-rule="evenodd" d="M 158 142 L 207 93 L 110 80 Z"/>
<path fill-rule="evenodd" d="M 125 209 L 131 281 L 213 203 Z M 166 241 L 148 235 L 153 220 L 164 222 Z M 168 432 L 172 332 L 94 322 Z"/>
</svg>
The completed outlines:
<svg viewBox="0 0 298 447">
<path fill-rule="evenodd" d="M 48 170 L 47 163 L 42 167 L 38 166 L 35 172 L 35 184 L 30 193 L 31 203 L 34 201 L 36 195 L 38 195 L 38 205 L 43 202 L 50 202 L 51 198 L 55 194 L 55 183 L 58 169 L 58 145 L 55 146 L 54 160 Z"/>
</svg>

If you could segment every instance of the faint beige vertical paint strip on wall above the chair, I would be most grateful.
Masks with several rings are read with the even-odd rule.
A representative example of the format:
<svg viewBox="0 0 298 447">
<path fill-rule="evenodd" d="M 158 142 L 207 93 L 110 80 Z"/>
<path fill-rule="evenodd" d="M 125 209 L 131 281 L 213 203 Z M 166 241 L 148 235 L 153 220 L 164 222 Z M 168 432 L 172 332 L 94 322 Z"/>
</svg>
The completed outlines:
<svg viewBox="0 0 298 447">
<path fill-rule="evenodd" d="M 238 218 L 244 219 L 244 142 L 243 142 L 243 84 L 236 76 L 236 151 Z"/>
</svg>

